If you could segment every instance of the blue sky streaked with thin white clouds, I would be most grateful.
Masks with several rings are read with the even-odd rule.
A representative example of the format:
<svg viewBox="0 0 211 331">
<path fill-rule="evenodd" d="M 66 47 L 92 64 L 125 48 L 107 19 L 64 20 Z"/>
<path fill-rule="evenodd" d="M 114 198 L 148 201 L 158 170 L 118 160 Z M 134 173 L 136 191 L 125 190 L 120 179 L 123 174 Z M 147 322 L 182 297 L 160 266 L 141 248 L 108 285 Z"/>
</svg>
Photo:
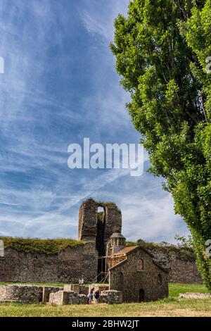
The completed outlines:
<svg viewBox="0 0 211 331">
<path fill-rule="evenodd" d="M 68 146 L 138 144 L 120 86 L 113 20 L 127 0 L 0 0 L 0 235 L 77 238 L 84 199 L 114 201 L 128 240 L 187 235 L 162 178 L 70 169 Z"/>
</svg>

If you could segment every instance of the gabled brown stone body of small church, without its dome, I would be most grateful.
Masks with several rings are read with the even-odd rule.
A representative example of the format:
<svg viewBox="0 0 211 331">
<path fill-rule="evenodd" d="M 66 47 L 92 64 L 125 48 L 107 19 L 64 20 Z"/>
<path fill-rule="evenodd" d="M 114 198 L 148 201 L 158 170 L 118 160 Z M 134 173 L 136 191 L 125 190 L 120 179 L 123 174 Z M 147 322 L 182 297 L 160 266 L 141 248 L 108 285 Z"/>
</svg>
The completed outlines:
<svg viewBox="0 0 211 331">
<path fill-rule="evenodd" d="M 124 302 L 155 301 L 168 296 L 167 272 L 141 246 L 110 268 L 109 282 L 110 289 L 122 291 Z"/>
</svg>

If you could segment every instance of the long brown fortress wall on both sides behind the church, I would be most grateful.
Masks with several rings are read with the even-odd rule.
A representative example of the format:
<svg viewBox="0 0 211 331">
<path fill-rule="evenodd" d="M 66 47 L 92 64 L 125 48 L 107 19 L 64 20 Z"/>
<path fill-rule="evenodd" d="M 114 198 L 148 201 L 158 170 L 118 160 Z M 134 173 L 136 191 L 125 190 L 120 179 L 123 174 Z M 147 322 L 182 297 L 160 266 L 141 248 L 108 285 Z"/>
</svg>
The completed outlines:
<svg viewBox="0 0 211 331">
<path fill-rule="evenodd" d="M 169 281 L 201 284 L 191 249 L 148 246 L 158 262 L 170 270 Z M 68 247 L 56 255 L 26 253 L 6 248 L 0 257 L 0 282 L 94 282 L 97 276 L 95 243 Z"/>
</svg>

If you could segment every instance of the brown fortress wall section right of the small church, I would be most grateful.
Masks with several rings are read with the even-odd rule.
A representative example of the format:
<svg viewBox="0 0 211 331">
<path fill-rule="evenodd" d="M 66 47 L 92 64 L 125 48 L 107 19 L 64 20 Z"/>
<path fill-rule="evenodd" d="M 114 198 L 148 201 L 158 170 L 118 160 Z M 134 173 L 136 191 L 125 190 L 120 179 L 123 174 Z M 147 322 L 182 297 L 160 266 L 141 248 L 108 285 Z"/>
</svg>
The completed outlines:
<svg viewBox="0 0 211 331">
<path fill-rule="evenodd" d="M 149 247 L 156 260 L 169 270 L 169 282 L 202 284 L 192 249 L 177 247 Z"/>
</svg>

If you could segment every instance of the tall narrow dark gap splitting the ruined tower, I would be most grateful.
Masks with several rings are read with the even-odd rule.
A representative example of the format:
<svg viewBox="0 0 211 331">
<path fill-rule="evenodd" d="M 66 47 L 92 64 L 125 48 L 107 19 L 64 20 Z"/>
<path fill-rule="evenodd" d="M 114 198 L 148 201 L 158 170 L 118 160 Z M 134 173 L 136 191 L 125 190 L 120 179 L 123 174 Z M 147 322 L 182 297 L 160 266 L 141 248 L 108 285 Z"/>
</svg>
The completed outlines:
<svg viewBox="0 0 211 331">
<path fill-rule="evenodd" d="M 105 277 L 106 272 L 106 259 L 101 256 L 106 256 L 105 247 L 105 227 L 106 227 L 106 208 L 98 206 L 97 208 L 97 232 L 96 232 L 96 249 L 98 251 L 98 280 Z"/>
</svg>

